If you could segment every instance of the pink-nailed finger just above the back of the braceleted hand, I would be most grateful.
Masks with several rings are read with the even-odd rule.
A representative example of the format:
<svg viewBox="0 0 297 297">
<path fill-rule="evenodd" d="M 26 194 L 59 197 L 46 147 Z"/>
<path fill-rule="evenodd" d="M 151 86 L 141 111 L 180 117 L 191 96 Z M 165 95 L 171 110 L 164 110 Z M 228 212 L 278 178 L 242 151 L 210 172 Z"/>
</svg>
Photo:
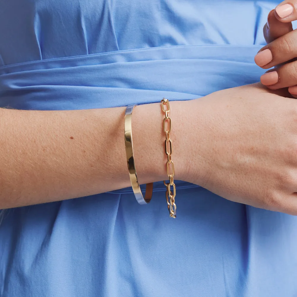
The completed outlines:
<svg viewBox="0 0 297 297">
<path fill-rule="evenodd" d="M 268 70 L 260 77 L 260 80 L 271 90 L 295 86 L 297 84 L 297 61 Z"/>
</svg>

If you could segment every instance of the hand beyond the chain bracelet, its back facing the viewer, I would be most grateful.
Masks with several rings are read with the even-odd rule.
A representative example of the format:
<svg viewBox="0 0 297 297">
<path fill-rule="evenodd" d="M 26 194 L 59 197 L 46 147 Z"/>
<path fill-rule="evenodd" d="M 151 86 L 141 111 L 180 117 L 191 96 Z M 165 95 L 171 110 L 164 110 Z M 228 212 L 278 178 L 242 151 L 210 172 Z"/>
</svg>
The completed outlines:
<svg viewBox="0 0 297 297">
<path fill-rule="evenodd" d="M 193 100 L 183 179 L 228 200 L 297 215 L 297 101 L 277 92 L 258 83 Z"/>
</svg>

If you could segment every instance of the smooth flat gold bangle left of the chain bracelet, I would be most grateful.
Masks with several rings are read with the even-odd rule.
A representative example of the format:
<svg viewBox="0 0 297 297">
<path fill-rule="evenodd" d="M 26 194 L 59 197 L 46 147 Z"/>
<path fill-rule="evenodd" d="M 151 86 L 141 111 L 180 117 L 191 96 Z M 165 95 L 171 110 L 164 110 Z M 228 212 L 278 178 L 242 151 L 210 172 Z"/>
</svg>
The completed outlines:
<svg viewBox="0 0 297 297">
<path fill-rule="evenodd" d="M 136 200 L 139 204 L 146 204 L 151 201 L 151 195 L 153 193 L 153 183 L 146 184 L 146 194 L 143 198 L 141 193 L 141 189 L 138 183 L 138 178 L 136 175 L 136 168 L 134 162 L 134 152 L 133 152 L 133 144 L 132 144 L 132 111 L 134 105 L 128 105 L 125 112 L 124 119 L 124 133 L 125 133 L 125 148 L 126 148 L 126 157 L 127 157 L 127 165 L 129 170 L 130 181 L 132 185 L 132 189 Z"/>
</svg>

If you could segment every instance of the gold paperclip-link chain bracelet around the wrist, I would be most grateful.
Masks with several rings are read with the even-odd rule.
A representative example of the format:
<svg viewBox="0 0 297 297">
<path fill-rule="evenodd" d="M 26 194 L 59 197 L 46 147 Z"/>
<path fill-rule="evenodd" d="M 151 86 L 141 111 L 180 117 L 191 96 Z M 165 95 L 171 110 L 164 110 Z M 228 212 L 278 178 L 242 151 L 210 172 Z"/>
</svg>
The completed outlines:
<svg viewBox="0 0 297 297">
<path fill-rule="evenodd" d="M 176 187 L 173 180 L 174 177 L 174 165 L 171 160 L 171 154 L 172 154 L 172 143 L 170 140 L 170 131 L 171 131 L 171 118 L 169 117 L 168 113 L 170 112 L 170 105 L 168 99 L 163 98 L 161 100 L 162 110 L 165 112 L 165 118 L 163 120 L 163 130 L 166 134 L 166 140 L 165 140 L 165 153 L 167 155 L 167 163 L 166 163 L 166 170 L 167 170 L 167 176 L 169 177 L 169 183 L 167 184 L 165 181 L 164 184 L 167 188 L 166 190 L 166 200 L 167 200 L 167 206 L 169 210 L 169 216 L 171 218 L 176 218 L 176 204 L 175 204 L 175 195 L 176 195 Z M 166 109 L 164 107 L 167 106 Z M 166 123 L 168 122 L 168 129 L 166 129 Z M 169 167 L 171 165 L 171 172 L 169 173 Z M 171 192 L 171 186 L 173 186 L 173 194 Z"/>
</svg>

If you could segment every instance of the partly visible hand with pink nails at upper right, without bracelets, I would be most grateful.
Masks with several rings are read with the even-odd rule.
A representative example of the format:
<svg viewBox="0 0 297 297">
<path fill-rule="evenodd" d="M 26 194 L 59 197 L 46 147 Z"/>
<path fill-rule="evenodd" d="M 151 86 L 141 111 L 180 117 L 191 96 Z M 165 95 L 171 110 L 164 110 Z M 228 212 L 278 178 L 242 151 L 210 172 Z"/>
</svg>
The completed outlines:
<svg viewBox="0 0 297 297">
<path fill-rule="evenodd" d="M 255 56 L 256 64 L 263 69 L 276 66 L 261 76 L 261 82 L 272 90 L 289 87 L 294 97 L 297 97 L 297 31 L 293 31 L 291 21 L 296 19 L 297 0 L 283 1 L 272 10 L 263 28 L 269 44 Z"/>
</svg>

